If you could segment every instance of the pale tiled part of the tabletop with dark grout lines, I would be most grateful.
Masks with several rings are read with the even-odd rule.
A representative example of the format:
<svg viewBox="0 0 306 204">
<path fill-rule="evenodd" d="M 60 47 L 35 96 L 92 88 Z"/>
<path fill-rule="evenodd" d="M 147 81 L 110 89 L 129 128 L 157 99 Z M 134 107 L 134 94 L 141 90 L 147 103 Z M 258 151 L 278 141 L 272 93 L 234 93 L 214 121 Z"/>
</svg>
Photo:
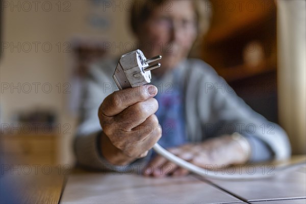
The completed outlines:
<svg viewBox="0 0 306 204">
<path fill-rule="evenodd" d="M 193 174 L 152 178 L 118 172 L 75 172 L 60 203 L 306 203 L 305 156 L 283 164 L 294 162 L 301 163 L 286 171 L 270 171 L 275 175 L 265 179 L 244 181 L 207 180 Z M 256 170 L 262 173 L 263 166 Z"/>
</svg>

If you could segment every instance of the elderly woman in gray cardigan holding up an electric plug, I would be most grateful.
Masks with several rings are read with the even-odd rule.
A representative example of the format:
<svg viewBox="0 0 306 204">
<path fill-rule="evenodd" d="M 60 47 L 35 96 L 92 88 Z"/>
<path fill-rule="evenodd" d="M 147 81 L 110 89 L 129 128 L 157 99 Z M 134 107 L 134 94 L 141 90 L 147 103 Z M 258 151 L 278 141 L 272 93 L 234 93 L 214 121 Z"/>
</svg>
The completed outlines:
<svg viewBox="0 0 306 204">
<path fill-rule="evenodd" d="M 154 176 L 188 173 L 150 150 L 156 142 L 204 168 L 288 158 L 281 127 L 249 108 L 208 64 L 187 58 L 206 27 L 205 2 L 136 2 L 131 22 L 140 49 L 147 58 L 162 55 L 162 67 L 152 70 L 151 85 L 120 91 L 105 86 L 114 85 L 117 61 L 91 67 L 74 143 L 79 164 L 134 166 Z"/>
</svg>

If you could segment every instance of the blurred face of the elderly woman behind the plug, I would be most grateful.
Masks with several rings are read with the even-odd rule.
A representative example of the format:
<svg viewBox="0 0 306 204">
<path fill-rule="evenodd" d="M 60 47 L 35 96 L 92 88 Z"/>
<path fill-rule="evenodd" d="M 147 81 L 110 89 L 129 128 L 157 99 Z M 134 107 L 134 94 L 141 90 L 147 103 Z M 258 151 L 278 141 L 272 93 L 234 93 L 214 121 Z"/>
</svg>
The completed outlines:
<svg viewBox="0 0 306 204">
<path fill-rule="evenodd" d="M 156 74 L 161 74 L 187 57 L 196 35 L 192 3 L 166 1 L 154 9 L 139 32 L 139 39 L 147 58 L 162 55 L 161 68 L 154 70 Z"/>
</svg>

